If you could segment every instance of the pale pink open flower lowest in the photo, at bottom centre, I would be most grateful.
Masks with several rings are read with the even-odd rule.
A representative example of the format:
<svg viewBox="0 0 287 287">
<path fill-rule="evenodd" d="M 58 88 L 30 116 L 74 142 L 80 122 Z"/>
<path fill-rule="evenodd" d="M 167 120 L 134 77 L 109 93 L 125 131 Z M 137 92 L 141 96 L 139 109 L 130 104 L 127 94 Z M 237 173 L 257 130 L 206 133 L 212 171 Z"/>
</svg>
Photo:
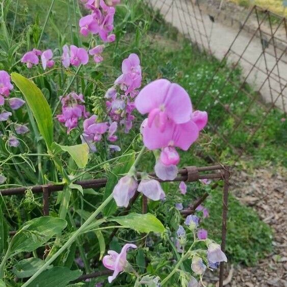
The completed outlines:
<svg viewBox="0 0 287 287">
<path fill-rule="evenodd" d="M 137 246 L 135 244 L 125 244 L 120 253 L 117 253 L 114 250 L 109 250 L 109 255 L 102 258 L 103 266 L 114 271 L 113 275 L 108 277 L 109 283 L 111 283 L 120 272 L 130 269 L 126 260 L 126 252 L 129 248 L 137 248 Z"/>
</svg>

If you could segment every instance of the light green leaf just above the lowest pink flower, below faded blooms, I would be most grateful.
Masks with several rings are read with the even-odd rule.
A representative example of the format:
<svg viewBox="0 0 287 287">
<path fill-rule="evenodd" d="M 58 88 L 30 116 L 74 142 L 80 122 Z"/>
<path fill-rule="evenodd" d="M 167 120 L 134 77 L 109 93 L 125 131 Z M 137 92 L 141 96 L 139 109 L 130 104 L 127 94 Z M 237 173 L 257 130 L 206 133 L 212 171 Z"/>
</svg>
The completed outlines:
<svg viewBox="0 0 287 287">
<path fill-rule="evenodd" d="M 112 217 L 109 221 L 116 221 L 120 225 L 133 228 L 139 232 L 164 232 L 163 224 L 152 214 L 130 213 L 125 216 Z"/>
</svg>

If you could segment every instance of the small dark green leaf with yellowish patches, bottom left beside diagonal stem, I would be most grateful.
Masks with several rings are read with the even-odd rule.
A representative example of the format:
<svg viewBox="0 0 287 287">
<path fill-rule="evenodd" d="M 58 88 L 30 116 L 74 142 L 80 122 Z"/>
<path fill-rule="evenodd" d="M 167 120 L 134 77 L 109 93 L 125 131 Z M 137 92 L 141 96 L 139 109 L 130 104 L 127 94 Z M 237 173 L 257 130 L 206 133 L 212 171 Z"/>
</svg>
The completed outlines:
<svg viewBox="0 0 287 287">
<path fill-rule="evenodd" d="M 16 263 L 12 271 L 18 278 L 27 278 L 35 274 L 44 264 L 42 259 L 31 257 Z"/>
</svg>

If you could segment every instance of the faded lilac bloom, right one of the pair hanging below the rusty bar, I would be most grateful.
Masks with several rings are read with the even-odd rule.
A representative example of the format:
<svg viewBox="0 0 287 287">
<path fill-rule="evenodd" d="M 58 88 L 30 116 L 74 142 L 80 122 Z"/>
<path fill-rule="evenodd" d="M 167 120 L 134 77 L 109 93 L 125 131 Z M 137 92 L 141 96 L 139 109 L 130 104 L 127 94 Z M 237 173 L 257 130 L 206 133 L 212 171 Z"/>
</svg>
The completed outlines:
<svg viewBox="0 0 287 287">
<path fill-rule="evenodd" d="M 160 200 L 165 198 L 165 193 L 160 182 L 155 179 L 142 179 L 139 184 L 138 191 L 142 192 L 151 200 Z"/>
</svg>

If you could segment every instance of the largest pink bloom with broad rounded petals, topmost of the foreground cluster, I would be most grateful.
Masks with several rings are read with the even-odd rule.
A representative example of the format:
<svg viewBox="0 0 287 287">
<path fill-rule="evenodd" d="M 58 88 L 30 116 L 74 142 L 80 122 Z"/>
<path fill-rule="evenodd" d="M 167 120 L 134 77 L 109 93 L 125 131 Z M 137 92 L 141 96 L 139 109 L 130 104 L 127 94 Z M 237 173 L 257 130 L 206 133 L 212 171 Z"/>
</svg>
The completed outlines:
<svg viewBox="0 0 287 287">
<path fill-rule="evenodd" d="M 191 100 L 186 90 L 168 80 L 160 79 L 145 86 L 136 97 L 136 108 L 141 114 L 148 113 L 148 127 L 165 131 L 169 120 L 176 124 L 190 121 Z"/>
</svg>

